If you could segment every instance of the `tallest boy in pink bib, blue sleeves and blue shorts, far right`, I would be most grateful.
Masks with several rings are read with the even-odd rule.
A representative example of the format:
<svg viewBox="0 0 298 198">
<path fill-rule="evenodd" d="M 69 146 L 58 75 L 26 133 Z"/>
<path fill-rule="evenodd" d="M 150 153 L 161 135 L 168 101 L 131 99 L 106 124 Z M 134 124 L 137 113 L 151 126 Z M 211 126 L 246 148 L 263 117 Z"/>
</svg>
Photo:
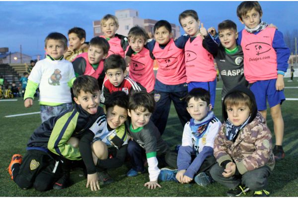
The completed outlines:
<svg viewBox="0 0 298 198">
<path fill-rule="evenodd" d="M 290 49 L 285 45 L 281 32 L 261 21 L 262 14 L 258 1 L 240 3 L 237 16 L 245 29 L 239 32 L 238 44 L 244 54 L 244 76 L 256 97 L 258 111 L 265 119 L 268 100 L 276 137 L 273 153 L 276 159 L 282 159 L 285 152 L 282 147 L 284 120 L 281 104 L 285 100 L 284 75 Z"/>
</svg>

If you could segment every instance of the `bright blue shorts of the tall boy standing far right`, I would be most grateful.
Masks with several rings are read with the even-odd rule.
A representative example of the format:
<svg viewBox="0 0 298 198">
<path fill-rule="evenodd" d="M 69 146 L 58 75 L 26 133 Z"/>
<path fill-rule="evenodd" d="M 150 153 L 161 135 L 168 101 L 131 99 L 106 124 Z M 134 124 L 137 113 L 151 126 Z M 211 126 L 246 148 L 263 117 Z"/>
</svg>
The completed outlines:
<svg viewBox="0 0 298 198">
<path fill-rule="evenodd" d="M 257 81 L 250 84 L 250 90 L 255 96 L 258 111 L 267 109 L 266 99 L 270 108 L 277 104 L 282 104 L 286 99 L 284 90 L 277 91 L 275 85 L 276 79 Z"/>
</svg>

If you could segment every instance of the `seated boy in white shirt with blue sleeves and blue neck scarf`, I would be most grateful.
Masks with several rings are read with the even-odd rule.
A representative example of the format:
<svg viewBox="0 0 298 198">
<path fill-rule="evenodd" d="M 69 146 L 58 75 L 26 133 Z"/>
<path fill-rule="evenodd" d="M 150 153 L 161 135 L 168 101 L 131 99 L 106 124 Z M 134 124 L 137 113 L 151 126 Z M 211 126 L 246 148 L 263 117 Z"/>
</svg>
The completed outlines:
<svg viewBox="0 0 298 198">
<path fill-rule="evenodd" d="M 213 182 L 209 170 L 215 164 L 213 156 L 214 139 L 222 125 L 215 117 L 210 103 L 210 93 L 202 88 L 192 89 L 187 97 L 187 111 L 192 117 L 184 126 L 182 145 L 176 163 L 166 158 L 171 167 L 178 170 L 161 169 L 158 179 L 189 183 L 192 180 L 200 186 Z M 173 158 L 173 155 L 171 156 Z"/>
</svg>

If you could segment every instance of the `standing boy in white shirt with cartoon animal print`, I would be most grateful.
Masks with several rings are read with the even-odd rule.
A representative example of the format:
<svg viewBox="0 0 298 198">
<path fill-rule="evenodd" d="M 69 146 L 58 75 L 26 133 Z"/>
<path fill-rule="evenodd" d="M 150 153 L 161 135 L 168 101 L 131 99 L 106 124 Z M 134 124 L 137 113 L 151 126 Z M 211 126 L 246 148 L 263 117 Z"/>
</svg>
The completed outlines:
<svg viewBox="0 0 298 198">
<path fill-rule="evenodd" d="M 33 67 L 24 94 L 25 107 L 33 105 L 33 98 L 39 86 L 40 116 L 42 122 L 72 108 L 71 87 L 74 68 L 65 60 L 67 39 L 61 33 L 50 33 L 45 39 L 47 57 Z"/>
</svg>

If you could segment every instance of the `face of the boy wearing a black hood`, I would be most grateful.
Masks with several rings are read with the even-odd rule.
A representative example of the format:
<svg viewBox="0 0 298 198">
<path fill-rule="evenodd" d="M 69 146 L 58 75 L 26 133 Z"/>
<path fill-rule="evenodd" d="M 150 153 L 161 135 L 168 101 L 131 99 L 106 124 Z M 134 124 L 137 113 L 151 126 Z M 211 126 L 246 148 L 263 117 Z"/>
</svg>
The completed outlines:
<svg viewBox="0 0 298 198">
<path fill-rule="evenodd" d="M 243 124 L 250 114 L 250 109 L 246 104 L 238 104 L 233 106 L 226 106 L 226 113 L 229 121 L 234 126 L 240 126 Z"/>
</svg>

